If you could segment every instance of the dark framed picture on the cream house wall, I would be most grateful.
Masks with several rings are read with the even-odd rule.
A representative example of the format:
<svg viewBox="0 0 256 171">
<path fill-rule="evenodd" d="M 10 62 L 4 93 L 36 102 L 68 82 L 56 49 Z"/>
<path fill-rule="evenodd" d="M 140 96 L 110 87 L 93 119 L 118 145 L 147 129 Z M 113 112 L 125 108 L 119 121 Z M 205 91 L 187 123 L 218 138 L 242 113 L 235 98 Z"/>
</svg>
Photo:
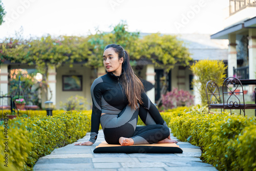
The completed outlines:
<svg viewBox="0 0 256 171">
<path fill-rule="evenodd" d="M 81 75 L 63 75 L 62 91 L 82 91 Z"/>
</svg>

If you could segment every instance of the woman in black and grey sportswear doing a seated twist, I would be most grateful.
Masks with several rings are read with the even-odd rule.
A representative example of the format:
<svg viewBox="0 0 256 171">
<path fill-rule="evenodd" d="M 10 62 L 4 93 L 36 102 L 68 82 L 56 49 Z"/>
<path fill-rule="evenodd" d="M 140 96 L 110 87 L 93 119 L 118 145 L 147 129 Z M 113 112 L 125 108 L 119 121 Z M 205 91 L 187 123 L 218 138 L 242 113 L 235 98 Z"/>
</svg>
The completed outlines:
<svg viewBox="0 0 256 171">
<path fill-rule="evenodd" d="M 99 124 L 109 144 L 177 143 L 170 140 L 166 122 L 134 74 L 128 52 L 120 45 L 108 45 L 103 64 L 108 73 L 95 79 L 91 87 L 91 138 L 75 145 L 92 145 Z M 138 116 L 146 126 L 137 126 Z"/>
</svg>

